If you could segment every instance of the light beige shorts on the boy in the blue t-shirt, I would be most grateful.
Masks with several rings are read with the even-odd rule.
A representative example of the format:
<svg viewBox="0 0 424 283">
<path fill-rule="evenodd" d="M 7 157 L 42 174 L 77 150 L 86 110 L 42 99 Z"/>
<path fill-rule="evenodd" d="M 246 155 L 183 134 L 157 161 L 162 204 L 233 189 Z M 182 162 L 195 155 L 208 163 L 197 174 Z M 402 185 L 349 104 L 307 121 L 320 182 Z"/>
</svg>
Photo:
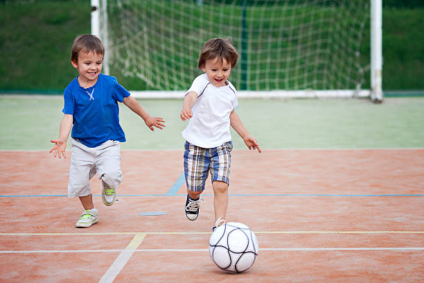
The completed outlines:
<svg viewBox="0 0 424 283">
<path fill-rule="evenodd" d="M 111 187 L 118 187 L 122 181 L 121 144 L 119 141 L 105 141 L 100 146 L 89 148 L 77 139 L 71 139 L 72 156 L 69 168 L 68 196 L 91 194 L 89 180 L 98 175 Z"/>
</svg>

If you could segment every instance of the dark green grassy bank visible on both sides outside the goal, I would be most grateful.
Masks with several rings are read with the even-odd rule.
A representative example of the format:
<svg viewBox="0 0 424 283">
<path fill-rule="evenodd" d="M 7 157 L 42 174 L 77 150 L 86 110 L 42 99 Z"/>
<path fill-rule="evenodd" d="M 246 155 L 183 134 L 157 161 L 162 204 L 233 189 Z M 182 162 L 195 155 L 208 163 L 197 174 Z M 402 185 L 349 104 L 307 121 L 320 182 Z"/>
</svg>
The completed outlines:
<svg viewBox="0 0 424 283">
<path fill-rule="evenodd" d="M 88 0 L 0 1 L 0 89 L 61 92 L 77 75 L 71 44 L 90 32 L 90 11 Z M 383 89 L 424 89 L 423 30 L 423 6 L 383 9 Z M 369 23 L 365 31 L 369 38 Z M 369 41 L 361 51 L 369 58 Z M 134 78 L 118 80 L 129 89 L 143 87 Z"/>
</svg>

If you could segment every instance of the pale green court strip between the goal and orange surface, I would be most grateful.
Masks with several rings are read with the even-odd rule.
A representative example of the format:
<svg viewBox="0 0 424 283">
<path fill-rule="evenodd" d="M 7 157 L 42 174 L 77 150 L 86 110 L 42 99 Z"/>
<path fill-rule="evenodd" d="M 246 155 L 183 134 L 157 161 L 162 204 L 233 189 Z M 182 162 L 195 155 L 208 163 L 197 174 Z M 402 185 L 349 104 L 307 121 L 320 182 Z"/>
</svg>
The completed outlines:
<svg viewBox="0 0 424 283">
<path fill-rule="evenodd" d="M 121 104 L 125 149 L 182 149 L 179 119 L 182 100 L 140 100 L 166 129 L 151 132 Z M 59 135 L 62 96 L 0 96 L 0 150 L 42 150 Z M 240 99 L 237 112 L 263 149 L 277 148 L 423 148 L 424 98 Z M 232 132 L 234 148 L 245 148 Z M 69 146 L 70 150 L 71 147 Z"/>
</svg>

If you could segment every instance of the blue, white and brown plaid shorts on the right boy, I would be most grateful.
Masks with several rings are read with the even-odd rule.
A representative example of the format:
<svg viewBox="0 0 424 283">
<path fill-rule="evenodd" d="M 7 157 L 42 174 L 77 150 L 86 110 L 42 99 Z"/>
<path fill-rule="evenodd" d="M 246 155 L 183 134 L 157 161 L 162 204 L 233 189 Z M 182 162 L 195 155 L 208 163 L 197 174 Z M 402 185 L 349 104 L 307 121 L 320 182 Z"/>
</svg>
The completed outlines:
<svg viewBox="0 0 424 283">
<path fill-rule="evenodd" d="M 211 171 L 212 182 L 229 184 L 229 168 L 233 143 L 227 141 L 215 148 L 201 148 L 186 141 L 184 144 L 184 175 L 190 191 L 203 191 L 204 183 Z"/>
</svg>

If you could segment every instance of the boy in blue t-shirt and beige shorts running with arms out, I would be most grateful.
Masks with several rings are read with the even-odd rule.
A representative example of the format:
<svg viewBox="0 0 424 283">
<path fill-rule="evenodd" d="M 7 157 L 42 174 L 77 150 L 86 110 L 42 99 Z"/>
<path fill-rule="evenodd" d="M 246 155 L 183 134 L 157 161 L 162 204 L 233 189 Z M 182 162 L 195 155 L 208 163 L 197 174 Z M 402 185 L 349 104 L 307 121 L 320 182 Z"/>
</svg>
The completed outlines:
<svg viewBox="0 0 424 283">
<path fill-rule="evenodd" d="M 55 144 L 50 151 L 53 156 L 67 158 L 65 149 L 72 129 L 68 196 L 78 196 L 85 209 L 76 223 L 78 228 L 98 222 L 89 185 L 96 173 L 103 184 L 103 203 L 113 205 L 116 200 L 116 188 L 122 180 L 120 142 L 125 141 L 118 102 L 138 114 L 150 130 L 165 127 L 164 119 L 150 117 L 116 78 L 100 74 L 104 54 L 102 42 L 94 35 L 80 35 L 74 40 L 71 63 L 79 76 L 64 90 L 59 138 L 51 139 Z"/>
</svg>

